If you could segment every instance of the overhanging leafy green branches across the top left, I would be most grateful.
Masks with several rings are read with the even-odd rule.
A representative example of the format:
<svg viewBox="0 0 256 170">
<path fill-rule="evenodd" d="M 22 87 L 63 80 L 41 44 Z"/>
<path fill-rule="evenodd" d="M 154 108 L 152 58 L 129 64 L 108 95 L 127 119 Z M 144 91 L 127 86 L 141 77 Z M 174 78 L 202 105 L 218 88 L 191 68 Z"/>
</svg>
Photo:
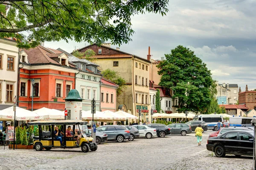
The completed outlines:
<svg viewBox="0 0 256 170">
<path fill-rule="evenodd" d="M 59 40 L 98 45 L 111 40 L 120 45 L 128 43 L 134 34 L 131 16 L 145 12 L 166 15 L 168 3 L 169 0 L 0 0 L 0 37 L 16 37 L 18 46 L 23 48 L 34 47 L 39 41 Z"/>
</svg>

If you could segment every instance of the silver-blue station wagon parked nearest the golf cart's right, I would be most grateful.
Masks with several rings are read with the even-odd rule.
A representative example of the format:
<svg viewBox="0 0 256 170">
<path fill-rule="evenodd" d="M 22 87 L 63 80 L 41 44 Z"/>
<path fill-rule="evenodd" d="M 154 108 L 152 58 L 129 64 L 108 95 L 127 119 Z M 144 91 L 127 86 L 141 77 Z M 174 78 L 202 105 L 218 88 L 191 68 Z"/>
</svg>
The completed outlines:
<svg viewBox="0 0 256 170">
<path fill-rule="evenodd" d="M 117 142 L 123 142 L 125 139 L 130 138 L 130 130 L 122 125 L 104 125 L 98 127 L 97 130 L 107 133 L 108 141 L 116 140 Z"/>
</svg>

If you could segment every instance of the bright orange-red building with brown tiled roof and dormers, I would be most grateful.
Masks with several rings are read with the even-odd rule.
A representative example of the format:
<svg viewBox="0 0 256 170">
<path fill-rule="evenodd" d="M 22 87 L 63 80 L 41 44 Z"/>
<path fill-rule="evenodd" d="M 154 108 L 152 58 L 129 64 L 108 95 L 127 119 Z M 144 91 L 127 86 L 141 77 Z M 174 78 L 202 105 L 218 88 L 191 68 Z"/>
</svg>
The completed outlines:
<svg viewBox="0 0 256 170">
<path fill-rule="evenodd" d="M 76 65 L 68 62 L 66 54 L 55 55 L 41 45 L 21 51 L 20 55 L 18 106 L 32 110 L 33 93 L 33 110 L 43 107 L 64 110 L 64 99 L 75 88 L 79 72 Z"/>
</svg>

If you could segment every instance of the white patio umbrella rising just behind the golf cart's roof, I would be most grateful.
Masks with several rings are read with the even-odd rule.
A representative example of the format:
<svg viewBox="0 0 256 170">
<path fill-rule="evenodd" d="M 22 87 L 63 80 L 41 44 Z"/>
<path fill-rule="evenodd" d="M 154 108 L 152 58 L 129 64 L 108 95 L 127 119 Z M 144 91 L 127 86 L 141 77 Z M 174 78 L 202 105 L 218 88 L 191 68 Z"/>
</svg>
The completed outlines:
<svg viewBox="0 0 256 170">
<path fill-rule="evenodd" d="M 43 116 L 44 119 L 65 119 L 64 111 L 58 111 L 55 109 L 40 108 L 33 111 L 33 113 L 37 113 L 39 116 Z"/>
</svg>

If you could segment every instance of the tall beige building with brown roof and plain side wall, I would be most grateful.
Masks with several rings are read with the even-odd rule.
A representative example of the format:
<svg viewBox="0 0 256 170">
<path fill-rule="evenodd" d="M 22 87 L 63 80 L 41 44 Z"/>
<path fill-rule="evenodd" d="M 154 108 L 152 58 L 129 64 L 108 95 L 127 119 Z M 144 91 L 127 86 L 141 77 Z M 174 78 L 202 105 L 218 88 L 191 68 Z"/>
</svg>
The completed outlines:
<svg viewBox="0 0 256 170">
<path fill-rule="evenodd" d="M 133 115 L 138 116 L 141 110 L 140 119 L 146 120 L 151 109 L 149 94 L 149 70 L 151 62 L 142 57 L 119 51 L 119 48 L 111 48 L 110 44 L 102 46 L 88 45 L 80 48 L 80 52 L 92 49 L 96 56 L 96 63 L 102 70 L 111 69 L 119 73 L 126 81 L 124 92 L 116 99 L 116 108 L 125 105 Z"/>
</svg>

